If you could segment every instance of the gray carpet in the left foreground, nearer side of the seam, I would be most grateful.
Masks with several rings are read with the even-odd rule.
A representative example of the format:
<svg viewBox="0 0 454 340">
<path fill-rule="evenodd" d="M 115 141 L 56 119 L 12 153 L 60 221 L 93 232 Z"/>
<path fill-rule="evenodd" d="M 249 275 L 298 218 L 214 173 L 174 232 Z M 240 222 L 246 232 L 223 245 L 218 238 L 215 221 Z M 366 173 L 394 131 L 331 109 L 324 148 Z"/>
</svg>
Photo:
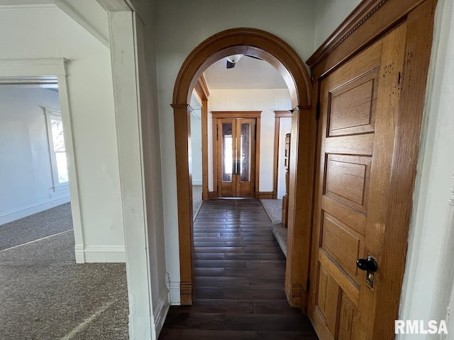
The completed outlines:
<svg viewBox="0 0 454 340">
<path fill-rule="evenodd" d="M 128 339 L 124 263 L 74 263 L 72 230 L 0 251 L 0 339 Z"/>
</svg>

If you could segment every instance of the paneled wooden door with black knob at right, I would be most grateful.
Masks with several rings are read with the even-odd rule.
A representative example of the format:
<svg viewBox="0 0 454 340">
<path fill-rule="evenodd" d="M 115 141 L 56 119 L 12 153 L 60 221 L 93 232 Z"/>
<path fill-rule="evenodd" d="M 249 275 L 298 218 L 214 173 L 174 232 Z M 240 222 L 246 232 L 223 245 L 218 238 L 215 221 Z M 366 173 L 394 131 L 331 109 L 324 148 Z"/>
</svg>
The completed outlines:
<svg viewBox="0 0 454 340">
<path fill-rule="evenodd" d="M 389 303 L 376 292 L 405 39 L 404 23 L 321 81 L 309 316 L 323 340 L 374 339 Z"/>
</svg>

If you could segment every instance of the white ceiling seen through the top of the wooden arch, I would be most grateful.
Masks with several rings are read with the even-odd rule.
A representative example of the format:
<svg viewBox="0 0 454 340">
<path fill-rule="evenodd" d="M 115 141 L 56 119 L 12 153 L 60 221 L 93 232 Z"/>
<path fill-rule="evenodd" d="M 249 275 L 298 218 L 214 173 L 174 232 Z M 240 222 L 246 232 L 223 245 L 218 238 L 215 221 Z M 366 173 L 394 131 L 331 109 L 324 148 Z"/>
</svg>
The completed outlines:
<svg viewBox="0 0 454 340">
<path fill-rule="evenodd" d="M 226 64 L 223 58 L 206 69 L 209 89 L 287 89 L 279 72 L 265 60 L 243 56 L 231 69 Z"/>
</svg>

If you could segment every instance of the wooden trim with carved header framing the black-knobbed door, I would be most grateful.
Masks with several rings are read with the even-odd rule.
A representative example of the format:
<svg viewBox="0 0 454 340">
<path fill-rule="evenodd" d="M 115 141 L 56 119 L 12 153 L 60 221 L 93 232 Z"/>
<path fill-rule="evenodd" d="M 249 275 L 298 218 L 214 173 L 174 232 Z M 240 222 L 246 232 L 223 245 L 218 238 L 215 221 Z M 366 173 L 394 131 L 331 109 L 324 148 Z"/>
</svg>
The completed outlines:
<svg viewBox="0 0 454 340">
<path fill-rule="evenodd" d="M 367 11 L 353 11 L 344 21 L 348 24 L 341 24 L 308 60 L 313 75 L 315 97 L 315 93 L 319 92 L 321 79 L 399 24 L 407 26 L 404 53 L 406 60 L 402 72 L 402 84 L 405 86 L 402 87 L 399 99 L 389 187 L 384 193 L 387 195 L 389 209 L 385 216 L 383 255 L 379 268 L 386 271 L 387 275 L 380 276 L 380 286 L 376 287 L 377 301 L 380 301 L 380 304 L 377 304 L 375 313 L 380 315 L 380 324 L 376 322 L 367 325 L 373 329 L 373 339 L 394 337 L 394 319 L 399 311 L 436 2 L 364 1 L 360 6 L 366 6 Z"/>
</svg>

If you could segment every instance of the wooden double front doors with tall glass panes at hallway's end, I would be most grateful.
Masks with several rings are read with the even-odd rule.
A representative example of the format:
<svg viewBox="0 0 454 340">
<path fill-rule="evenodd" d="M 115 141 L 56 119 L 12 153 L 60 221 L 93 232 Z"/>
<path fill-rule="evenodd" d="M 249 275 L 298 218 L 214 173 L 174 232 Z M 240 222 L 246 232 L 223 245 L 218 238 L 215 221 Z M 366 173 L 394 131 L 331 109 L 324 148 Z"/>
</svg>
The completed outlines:
<svg viewBox="0 0 454 340">
<path fill-rule="evenodd" d="M 217 119 L 218 197 L 255 197 L 255 119 Z"/>
</svg>

